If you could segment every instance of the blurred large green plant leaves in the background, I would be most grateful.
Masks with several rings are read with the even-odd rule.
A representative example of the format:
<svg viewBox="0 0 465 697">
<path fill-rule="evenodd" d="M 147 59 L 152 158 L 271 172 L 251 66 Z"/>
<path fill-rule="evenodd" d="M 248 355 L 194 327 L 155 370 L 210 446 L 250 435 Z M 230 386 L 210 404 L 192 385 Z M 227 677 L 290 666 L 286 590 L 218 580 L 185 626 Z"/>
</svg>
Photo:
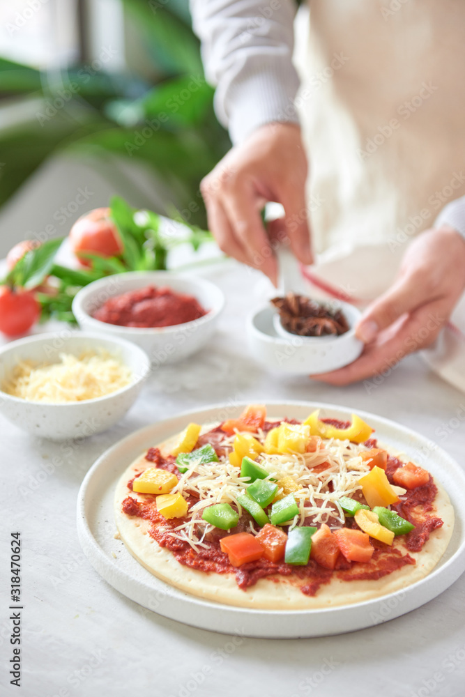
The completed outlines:
<svg viewBox="0 0 465 697">
<path fill-rule="evenodd" d="M 115 2 L 117 0 L 114 0 Z M 123 0 L 152 65 L 153 82 L 89 65 L 40 71 L 0 58 L 0 97 L 37 98 L 26 123 L 0 130 L 0 206 L 54 153 L 121 155 L 161 176 L 190 222 L 205 227 L 199 181 L 229 148 L 213 112 L 185 0 Z"/>
</svg>

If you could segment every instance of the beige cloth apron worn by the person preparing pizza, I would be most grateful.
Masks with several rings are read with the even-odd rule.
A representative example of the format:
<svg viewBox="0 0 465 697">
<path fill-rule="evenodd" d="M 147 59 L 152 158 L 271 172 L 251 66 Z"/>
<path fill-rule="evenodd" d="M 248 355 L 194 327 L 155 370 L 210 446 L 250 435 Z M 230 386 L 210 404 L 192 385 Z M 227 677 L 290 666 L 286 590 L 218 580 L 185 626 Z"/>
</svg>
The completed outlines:
<svg viewBox="0 0 465 697">
<path fill-rule="evenodd" d="M 465 1 L 310 8 L 310 29 L 306 8 L 298 18 L 296 64 L 312 279 L 363 305 L 388 288 L 413 236 L 465 194 Z"/>
</svg>

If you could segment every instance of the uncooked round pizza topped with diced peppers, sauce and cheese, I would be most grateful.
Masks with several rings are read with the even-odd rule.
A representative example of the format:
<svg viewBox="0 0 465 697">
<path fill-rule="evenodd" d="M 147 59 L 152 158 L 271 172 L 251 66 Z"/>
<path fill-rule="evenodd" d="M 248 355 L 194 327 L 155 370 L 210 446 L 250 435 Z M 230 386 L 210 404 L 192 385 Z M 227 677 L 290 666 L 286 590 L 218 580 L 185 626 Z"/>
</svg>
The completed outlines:
<svg viewBox="0 0 465 697">
<path fill-rule="evenodd" d="M 128 466 L 116 525 L 132 556 L 192 595 L 293 610 L 362 602 L 427 576 L 454 526 L 424 468 L 352 422 L 186 424 Z"/>
</svg>

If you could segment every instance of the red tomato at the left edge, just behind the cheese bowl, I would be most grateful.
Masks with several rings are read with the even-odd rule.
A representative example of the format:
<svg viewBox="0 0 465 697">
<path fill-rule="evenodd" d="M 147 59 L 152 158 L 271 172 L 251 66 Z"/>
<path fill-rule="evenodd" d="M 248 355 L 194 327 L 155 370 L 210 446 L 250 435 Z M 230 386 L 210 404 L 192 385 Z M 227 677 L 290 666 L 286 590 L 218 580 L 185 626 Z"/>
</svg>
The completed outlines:
<svg viewBox="0 0 465 697">
<path fill-rule="evenodd" d="M 31 291 L 0 286 L 0 332 L 8 337 L 24 334 L 39 316 L 40 305 Z"/>
</svg>

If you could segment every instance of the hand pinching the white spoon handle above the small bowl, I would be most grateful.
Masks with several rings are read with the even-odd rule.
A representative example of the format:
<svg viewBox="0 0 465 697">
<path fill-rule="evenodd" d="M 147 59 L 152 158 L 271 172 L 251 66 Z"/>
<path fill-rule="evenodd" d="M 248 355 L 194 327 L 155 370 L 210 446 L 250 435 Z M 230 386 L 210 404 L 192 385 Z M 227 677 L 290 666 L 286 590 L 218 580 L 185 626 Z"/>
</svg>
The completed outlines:
<svg viewBox="0 0 465 697">
<path fill-rule="evenodd" d="M 276 284 L 277 263 L 261 221 L 267 201 L 284 206 L 284 231 L 294 254 L 312 263 L 305 205 L 307 159 L 300 128 L 267 123 L 232 148 L 201 182 L 208 227 L 221 250 L 261 269 Z"/>
</svg>

